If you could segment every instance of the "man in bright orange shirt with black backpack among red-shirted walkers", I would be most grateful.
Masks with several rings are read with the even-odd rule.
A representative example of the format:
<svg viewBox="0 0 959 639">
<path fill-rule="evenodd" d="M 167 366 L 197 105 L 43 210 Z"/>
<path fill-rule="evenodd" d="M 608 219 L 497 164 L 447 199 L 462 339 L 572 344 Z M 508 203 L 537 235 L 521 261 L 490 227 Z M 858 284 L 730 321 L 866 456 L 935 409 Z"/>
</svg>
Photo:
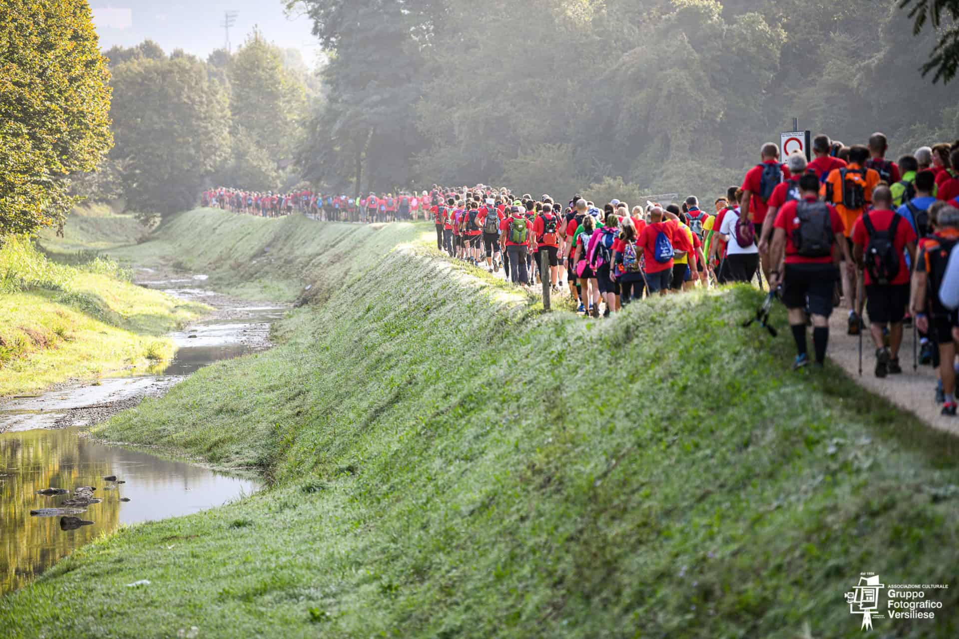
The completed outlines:
<svg viewBox="0 0 959 639">
<path fill-rule="evenodd" d="M 820 191 L 826 202 L 832 204 L 839 212 L 839 217 L 842 217 L 847 244 L 852 244 L 849 237 L 855 221 L 872 205 L 873 191 L 879 183 L 878 172 L 865 167 L 868 159 L 868 148 L 861 145 L 851 147 L 849 164 L 845 169 L 832 170 Z M 848 246 L 848 249 L 844 255 L 852 255 L 852 246 Z M 862 308 L 865 305 L 862 272 L 849 267 L 842 269 L 842 288 L 850 306 L 847 332 L 858 335 L 862 331 Z"/>
</svg>

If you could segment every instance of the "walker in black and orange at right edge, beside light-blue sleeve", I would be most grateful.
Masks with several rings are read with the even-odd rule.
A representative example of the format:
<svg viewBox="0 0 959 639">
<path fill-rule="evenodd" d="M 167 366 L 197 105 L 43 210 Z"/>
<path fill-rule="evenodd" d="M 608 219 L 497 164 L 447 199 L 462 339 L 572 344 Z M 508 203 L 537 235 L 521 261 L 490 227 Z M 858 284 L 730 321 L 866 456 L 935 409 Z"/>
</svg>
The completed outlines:
<svg viewBox="0 0 959 639">
<path fill-rule="evenodd" d="M 916 326 L 931 331 L 939 344 L 939 374 L 943 383 L 943 410 L 955 417 L 955 338 L 959 332 L 956 311 L 943 306 L 939 290 L 945 278 L 949 257 L 959 242 L 959 209 L 947 206 L 936 218 L 936 232 L 920 241 L 919 257 L 912 275 L 911 310 Z"/>
</svg>

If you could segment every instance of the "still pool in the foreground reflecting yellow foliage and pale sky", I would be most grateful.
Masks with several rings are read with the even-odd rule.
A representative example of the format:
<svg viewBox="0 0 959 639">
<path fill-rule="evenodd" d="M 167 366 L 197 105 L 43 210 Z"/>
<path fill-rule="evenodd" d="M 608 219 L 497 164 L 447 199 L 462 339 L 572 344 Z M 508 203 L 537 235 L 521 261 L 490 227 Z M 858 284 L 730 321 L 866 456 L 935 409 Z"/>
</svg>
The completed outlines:
<svg viewBox="0 0 959 639">
<path fill-rule="evenodd" d="M 126 483 L 111 485 L 104 481 L 108 475 Z M 95 487 L 94 496 L 103 500 L 74 515 L 92 525 L 61 530 L 59 517 L 30 514 L 57 508 L 82 486 Z M 71 494 L 36 493 L 46 488 Z M 245 479 L 94 444 L 74 428 L 0 435 L 0 593 L 22 586 L 120 524 L 197 513 L 256 488 Z"/>
</svg>

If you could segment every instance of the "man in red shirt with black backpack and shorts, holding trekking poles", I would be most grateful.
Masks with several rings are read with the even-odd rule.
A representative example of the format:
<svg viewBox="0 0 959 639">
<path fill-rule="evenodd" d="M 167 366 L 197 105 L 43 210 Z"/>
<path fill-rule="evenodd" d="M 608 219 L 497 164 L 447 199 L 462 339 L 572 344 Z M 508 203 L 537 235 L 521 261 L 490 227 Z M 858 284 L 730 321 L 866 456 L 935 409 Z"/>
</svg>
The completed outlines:
<svg viewBox="0 0 959 639">
<path fill-rule="evenodd" d="M 909 306 L 909 263 L 916 259 L 916 232 L 893 211 L 892 190 L 879 186 L 873 193 L 874 209 L 864 213 L 853 228 L 853 257 L 866 277 L 866 311 L 876 344 L 876 377 L 902 372 L 899 351 L 902 319 Z M 885 346 L 889 331 L 889 348 Z"/>
</svg>

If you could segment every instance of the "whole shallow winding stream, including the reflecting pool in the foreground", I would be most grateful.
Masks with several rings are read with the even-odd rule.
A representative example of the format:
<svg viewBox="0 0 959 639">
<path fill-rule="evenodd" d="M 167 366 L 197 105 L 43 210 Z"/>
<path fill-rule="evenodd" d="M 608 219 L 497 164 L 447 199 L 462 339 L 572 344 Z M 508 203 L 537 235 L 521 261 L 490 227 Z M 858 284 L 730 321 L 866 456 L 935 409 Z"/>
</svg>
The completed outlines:
<svg viewBox="0 0 959 639">
<path fill-rule="evenodd" d="M 197 513 L 259 488 L 247 479 L 82 437 L 80 426 L 163 395 L 203 366 L 269 348 L 270 324 L 285 308 L 190 287 L 201 281 L 141 283 L 217 308 L 171 335 L 177 352 L 162 372 L 66 383 L 0 404 L 0 594 L 121 524 Z M 105 480 L 111 476 L 122 483 Z M 81 487 L 95 489 L 95 503 L 76 505 Z M 37 492 L 51 488 L 68 492 Z M 69 510 L 57 510 L 64 508 Z"/>
</svg>

